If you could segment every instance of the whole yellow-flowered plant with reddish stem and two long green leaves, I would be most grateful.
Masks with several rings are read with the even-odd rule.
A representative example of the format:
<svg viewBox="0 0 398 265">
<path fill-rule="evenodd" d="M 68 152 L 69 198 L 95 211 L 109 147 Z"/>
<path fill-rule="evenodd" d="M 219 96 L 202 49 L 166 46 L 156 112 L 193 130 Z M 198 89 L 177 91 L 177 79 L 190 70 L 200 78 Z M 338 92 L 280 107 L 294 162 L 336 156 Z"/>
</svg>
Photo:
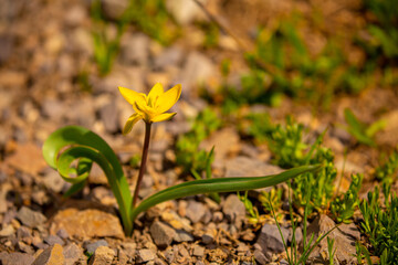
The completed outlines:
<svg viewBox="0 0 398 265">
<path fill-rule="evenodd" d="M 127 179 L 115 152 L 100 136 L 88 129 L 80 126 L 66 126 L 54 131 L 43 145 L 43 157 L 52 168 L 57 169 L 65 181 L 72 183 L 65 195 L 81 190 L 87 181 L 93 162 L 97 163 L 103 169 L 116 198 L 122 223 L 128 236 L 133 233 L 133 224 L 138 214 L 158 203 L 187 195 L 237 192 L 275 186 L 298 174 L 318 170 L 321 167 L 304 166 L 265 177 L 193 180 L 159 191 L 137 204 L 140 182 L 146 170 L 151 124 L 170 119 L 176 115 L 176 113 L 167 113 L 167 110 L 178 100 L 181 86 L 176 85 L 164 92 L 163 86 L 156 84 L 148 95 L 124 87 L 119 87 L 119 91 L 135 110 L 127 119 L 123 132 L 128 134 L 138 120 L 144 120 L 146 128 L 134 195 L 130 194 Z M 76 161 L 77 163 L 75 163 Z"/>
</svg>

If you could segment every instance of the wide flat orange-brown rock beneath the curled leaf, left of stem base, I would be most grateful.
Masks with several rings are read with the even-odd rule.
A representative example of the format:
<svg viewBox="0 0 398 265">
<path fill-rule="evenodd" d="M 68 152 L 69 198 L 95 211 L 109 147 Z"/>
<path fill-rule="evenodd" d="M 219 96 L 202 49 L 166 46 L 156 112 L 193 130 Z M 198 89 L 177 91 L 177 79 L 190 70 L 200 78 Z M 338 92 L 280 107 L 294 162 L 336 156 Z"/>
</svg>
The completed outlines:
<svg viewBox="0 0 398 265">
<path fill-rule="evenodd" d="M 64 229 L 71 236 L 83 239 L 105 236 L 124 239 L 119 220 L 111 213 L 94 209 L 78 211 L 69 208 L 60 211 L 54 216 L 50 232 L 55 234 L 60 229 Z"/>
</svg>

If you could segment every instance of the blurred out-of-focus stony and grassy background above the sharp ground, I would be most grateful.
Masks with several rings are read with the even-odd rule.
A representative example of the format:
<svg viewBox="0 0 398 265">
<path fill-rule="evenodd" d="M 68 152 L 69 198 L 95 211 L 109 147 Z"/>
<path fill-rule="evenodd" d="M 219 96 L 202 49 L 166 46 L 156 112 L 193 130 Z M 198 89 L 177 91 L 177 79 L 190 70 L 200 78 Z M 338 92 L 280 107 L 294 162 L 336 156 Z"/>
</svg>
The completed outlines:
<svg viewBox="0 0 398 265">
<path fill-rule="evenodd" d="M 130 108 L 117 86 L 181 83 L 182 119 L 207 105 L 229 114 L 291 99 L 328 112 L 336 97 L 398 82 L 394 0 L 0 4 L 2 153 L 64 124 L 118 134 Z"/>
</svg>

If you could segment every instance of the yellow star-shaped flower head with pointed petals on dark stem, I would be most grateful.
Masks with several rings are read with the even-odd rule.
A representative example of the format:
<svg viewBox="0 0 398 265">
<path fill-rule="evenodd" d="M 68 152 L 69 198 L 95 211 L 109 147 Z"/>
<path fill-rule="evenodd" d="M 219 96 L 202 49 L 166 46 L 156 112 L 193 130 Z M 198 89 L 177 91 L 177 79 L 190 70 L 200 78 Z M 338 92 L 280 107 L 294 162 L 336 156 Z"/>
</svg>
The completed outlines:
<svg viewBox="0 0 398 265">
<path fill-rule="evenodd" d="M 166 113 L 172 105 L 175 105 L 181 95 L 181 85 L 178 84 L 172 88 L 164 92 L 160 83 L 154 85 L 148 95 L 138 93 L 125 87 L 119 86 L 122 96 L 133 105 L 136 112 L 127 119 L 123 134 L 128 134 L 133 126 L 140 119 L 145 123 L 151 124 L 172 118 L 176 113 Z"/>
</svg>

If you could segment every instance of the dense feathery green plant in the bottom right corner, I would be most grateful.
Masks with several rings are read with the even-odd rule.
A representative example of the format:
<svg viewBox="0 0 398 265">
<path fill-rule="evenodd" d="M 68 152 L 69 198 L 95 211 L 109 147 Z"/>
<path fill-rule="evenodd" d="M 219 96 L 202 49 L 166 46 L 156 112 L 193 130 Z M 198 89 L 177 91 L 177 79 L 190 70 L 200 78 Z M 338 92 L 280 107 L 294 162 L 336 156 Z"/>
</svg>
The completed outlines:
<svg viewBox="0 0 398 265">
<path fill-rule="evenodd" d="M 384 264 L 398 263 L 398 198 L 390 192 L 390 187 L 384 188 L 383 206 L 379 199 L 379 188 L 367 194 L 360 205 L 364 216 L 360 226 L 369 237 L 374 254 L 384 259 Z"/>
</svg>

